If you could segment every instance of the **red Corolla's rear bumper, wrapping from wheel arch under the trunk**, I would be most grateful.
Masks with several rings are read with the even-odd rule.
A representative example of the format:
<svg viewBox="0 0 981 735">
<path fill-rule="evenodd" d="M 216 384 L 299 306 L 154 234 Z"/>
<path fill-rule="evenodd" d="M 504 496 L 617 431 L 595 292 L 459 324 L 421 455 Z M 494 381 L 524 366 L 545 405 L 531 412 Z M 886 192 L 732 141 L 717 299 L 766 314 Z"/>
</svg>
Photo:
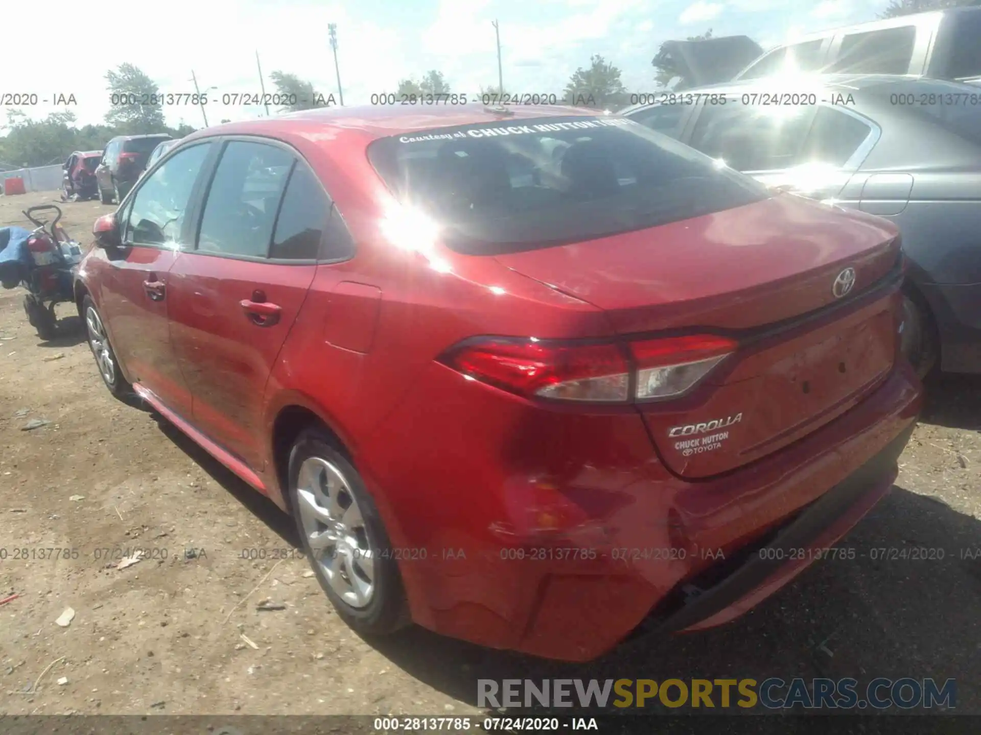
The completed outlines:
<svg viewBox="0 0 981 735">
<path fill-rule="evenodd" d="M 744 558 L 721 575 L 719 559 L 734 564 L 761 539 L 811 549 L 846 533 L 895 479 L 920 403 L 901 361 L 806 437 L 692 481 L 657 461 L 637 412 L 545 411 L 434 364 L 355 461 L 399 548 L 417 623 L 589 661 L 642 624 L 719 624 L 790 581 L 814 555 Z M 713 583 L 697 600 L 678 600 L 705 575 Z"/>
</svg>

